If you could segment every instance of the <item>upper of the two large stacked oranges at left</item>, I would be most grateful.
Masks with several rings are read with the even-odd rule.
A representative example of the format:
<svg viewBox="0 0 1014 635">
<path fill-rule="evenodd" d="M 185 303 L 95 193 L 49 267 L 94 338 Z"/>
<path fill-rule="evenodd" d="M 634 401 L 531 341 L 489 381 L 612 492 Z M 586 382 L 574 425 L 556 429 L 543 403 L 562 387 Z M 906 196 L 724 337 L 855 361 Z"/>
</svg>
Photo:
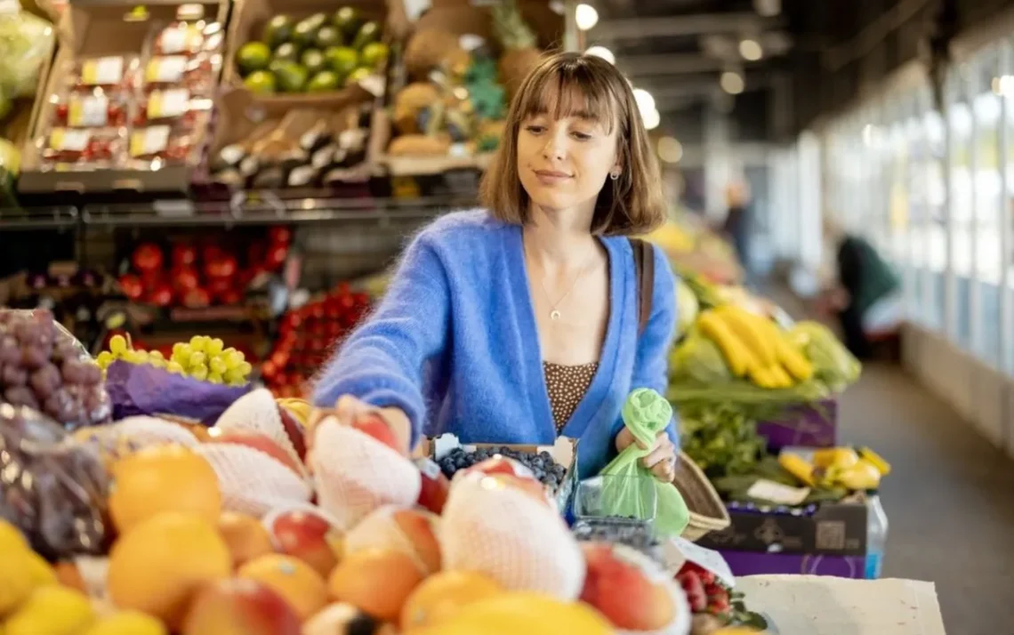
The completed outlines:
<svg viewBox="0 0 1014 635">
<path fill-rule="evenodd" d="M 178 445 L 146 447 L 113 464 L 110 513 L 124 534 L 163 511 L 200 516 L 215 524 L 222 492 L 203 456 Z"/>
</svg>

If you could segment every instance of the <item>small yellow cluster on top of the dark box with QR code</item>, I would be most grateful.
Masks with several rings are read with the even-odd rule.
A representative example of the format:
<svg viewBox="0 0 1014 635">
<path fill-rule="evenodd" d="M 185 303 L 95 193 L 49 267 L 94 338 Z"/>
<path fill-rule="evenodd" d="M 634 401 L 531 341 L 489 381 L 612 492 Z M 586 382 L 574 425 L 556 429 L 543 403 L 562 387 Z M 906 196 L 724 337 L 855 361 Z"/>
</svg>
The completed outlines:
<svg viewBox="0 0 1014 635">
<path fill-rule="evenodd" d="M 812 463 L 793 452 L 778 456 L 782 468 L 809 487 L 874 490 L 890 474 L 890 464 L 869 447 L 828 447 L 813 453 Z"/>
</svg>

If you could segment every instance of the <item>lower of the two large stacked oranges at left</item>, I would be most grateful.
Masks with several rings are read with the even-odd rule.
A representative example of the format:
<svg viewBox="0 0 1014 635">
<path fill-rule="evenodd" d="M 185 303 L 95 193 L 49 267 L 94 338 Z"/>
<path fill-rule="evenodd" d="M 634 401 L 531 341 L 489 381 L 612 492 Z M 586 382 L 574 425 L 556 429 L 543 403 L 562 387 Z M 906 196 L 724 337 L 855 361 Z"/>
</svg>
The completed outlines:
<svg viewBox="0 0 1014 635">
<path fill-rule="evenodd" d="M 172 628 L 202 584 L 231 572 L 232 556 L 214 523 L 167 511 L 113 545 L 106 587 L 120 609 L 147 613 Z"/>
</svg>

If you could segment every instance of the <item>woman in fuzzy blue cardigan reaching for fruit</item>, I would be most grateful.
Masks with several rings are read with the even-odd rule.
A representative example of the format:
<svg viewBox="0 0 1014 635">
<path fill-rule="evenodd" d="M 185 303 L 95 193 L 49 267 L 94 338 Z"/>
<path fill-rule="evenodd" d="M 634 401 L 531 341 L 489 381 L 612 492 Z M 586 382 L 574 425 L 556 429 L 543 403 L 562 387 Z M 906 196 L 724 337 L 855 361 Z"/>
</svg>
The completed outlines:
<svg viewBox="0 0 1014 635">
<path fill-rule="evenodd" d="M 593 476 L 632 442 L 621 408 L 664 392 L 674 280 L 652 251 L 639 333 L 627 238 L 665 218 L 658 166 L 630 84 L 597 57 L 546 59 L 523 82 L 482 184 L 486 209 L 448 214 L 408 246 L 387 294 L 315 387 L 343 423 L 380 415 L 406 448 L 580 439 Z M 674 472 L 672 422 L 645 457 Z"/>
</svg>

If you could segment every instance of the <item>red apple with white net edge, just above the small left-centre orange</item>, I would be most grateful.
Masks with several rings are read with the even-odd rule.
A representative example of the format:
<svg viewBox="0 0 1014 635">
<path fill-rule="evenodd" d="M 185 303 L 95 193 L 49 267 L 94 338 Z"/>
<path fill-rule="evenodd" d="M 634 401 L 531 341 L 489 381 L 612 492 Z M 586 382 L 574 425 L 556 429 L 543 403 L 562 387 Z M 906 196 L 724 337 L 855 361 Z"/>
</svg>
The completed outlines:
<svg viewBox="0 0 1014 635">
<path fill-rule="evenodd" d="M 327 579 L 342 553 L 341 532 L 310 511 L 296 509 L 267 518 L 268 533 L 278 551 L 298 558 Z"/>
</svg>

